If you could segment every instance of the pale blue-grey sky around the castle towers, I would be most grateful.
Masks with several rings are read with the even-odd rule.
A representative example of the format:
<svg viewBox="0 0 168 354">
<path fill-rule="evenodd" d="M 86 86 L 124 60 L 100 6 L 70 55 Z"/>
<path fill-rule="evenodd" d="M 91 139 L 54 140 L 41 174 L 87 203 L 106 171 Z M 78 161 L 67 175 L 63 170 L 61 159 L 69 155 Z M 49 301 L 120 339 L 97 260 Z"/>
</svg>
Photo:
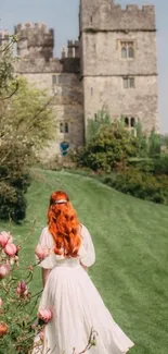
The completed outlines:
<svg viewBox="0 0 168 354">
<path fill-rule="evenodd" d="M 89 0 L 88 0 L 89 1 Z M 90 0 L 91 1 L 91 0 Z M 160 131 L 168 133 L 168 0 L 115 0 L 116 3 L 155 4 L 158 53 Z M 0 29 L 13 33 L 23 22 L 44 22 L 55 30 L 55 53 L 68 39 L 78 37 L 79 0 L 0 0 Z"/>
</svg>

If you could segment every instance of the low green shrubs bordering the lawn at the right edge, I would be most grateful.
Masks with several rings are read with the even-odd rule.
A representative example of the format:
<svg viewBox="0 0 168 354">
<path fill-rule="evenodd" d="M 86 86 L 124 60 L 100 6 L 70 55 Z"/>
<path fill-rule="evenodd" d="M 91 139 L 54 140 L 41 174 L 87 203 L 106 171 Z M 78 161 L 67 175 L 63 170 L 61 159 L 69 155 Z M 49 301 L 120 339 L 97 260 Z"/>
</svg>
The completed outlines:
<svg viewBox="0 0 168 354">
<path fill-rule="evenodd" d="M 128 169 L 115 178 L 105 178 L 104 183 L 134 197 L 168 205 L 167 175 L 155 176 L 137 169 Z"/>
</svg>

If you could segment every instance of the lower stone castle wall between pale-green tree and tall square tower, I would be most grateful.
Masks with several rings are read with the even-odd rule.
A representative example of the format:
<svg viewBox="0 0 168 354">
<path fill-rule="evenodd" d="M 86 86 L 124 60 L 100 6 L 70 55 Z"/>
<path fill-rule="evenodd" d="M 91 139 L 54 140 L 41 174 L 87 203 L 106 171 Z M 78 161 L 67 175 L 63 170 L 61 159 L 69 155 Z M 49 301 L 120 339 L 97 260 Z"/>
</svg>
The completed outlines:
<svg viewBox="0 0 168 354">
<path fill-rule="evenodd" d="M 60 144 L 69 143 L 74 148 L 83 145 L 82 86 L 77 74 L 23 73 L 29 83 L 46 89 L 51 97 L 50 105 L 55 117 L 55 139 L 42 151 L 42 158 L 50 160 L 61 154 Z M 53 84 L 53 76 L 54 83 Z M 63 124 L 64 132 L 61 132 Z M 65 124 L 68 132 L 65 131 Z"/>
</svg>

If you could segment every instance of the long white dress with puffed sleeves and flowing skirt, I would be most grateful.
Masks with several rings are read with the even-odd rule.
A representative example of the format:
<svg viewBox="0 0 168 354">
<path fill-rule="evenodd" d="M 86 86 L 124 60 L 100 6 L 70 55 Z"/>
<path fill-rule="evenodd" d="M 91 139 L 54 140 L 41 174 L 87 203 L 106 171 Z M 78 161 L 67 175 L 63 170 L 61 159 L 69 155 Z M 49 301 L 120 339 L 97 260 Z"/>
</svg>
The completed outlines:
<svg viewBox="0 0 168 354">
<path fill-rule="evenodd" d="M 96 345 L 90 354 L 124 354 L 134 344 L 114 321 L 96 288 L 82 265 L 95 261 L 94 246 L 86 227 L 78 258 L 50 255 L 40 266 L 51 269 L 39 309 L 51 309 L 52 320 L 46 326 L 42 354 L 78 354 L 88 343 L 91 330 L 96 331 Z M 39 243 L 49 248 L 54 242 L 44 228 Z M 75 351 L 74 351 L 75 349 Z M 73 352 L 74 351 L 74 352 Z"/>
</svg>

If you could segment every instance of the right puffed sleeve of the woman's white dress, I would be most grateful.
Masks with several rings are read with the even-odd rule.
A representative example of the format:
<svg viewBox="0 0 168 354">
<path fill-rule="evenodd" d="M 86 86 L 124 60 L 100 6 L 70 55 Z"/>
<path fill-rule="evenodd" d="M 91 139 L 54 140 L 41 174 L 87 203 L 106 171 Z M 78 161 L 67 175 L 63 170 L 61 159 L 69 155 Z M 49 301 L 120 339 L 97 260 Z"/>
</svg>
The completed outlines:
<svg viewBox="0 0 168 354">
<path fill-rule="evenodd" d="M 95 261 L 95 251 L 91 235 L 86 227 L 81 229 L 82 246 L 80 253 L 80 261 L 86 267 L 91 267 Z"/>
</svg>

